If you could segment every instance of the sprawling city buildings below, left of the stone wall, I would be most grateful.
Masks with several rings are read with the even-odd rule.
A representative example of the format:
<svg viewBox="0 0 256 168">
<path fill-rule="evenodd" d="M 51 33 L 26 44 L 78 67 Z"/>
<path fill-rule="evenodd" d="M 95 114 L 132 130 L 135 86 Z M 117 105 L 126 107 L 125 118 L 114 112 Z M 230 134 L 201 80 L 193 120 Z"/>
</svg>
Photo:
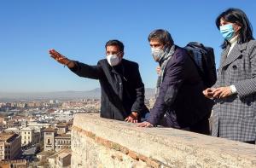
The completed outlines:
<svg viewBox="0 0 256 168">
<path fill-rule="evenodd" d="M 1 167 L 70 167 L 74 115 L 99 111 L 100 99 L 0 102 Z"/>
</svg>

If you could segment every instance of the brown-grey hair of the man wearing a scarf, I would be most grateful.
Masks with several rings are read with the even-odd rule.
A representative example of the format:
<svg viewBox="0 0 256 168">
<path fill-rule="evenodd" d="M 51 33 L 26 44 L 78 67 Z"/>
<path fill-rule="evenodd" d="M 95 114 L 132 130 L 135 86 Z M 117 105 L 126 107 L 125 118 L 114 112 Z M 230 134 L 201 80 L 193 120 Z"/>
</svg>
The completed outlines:
<svg viewBox="0 0 256 168">
<path fill-rule="evenodd" d="M 167 44 L 169 46 L 172 46 L 174 43 L 170 32 L 163 29 L 157 29 L 153 32 L 150 32 L 150 34 L 148 35 L 148 42 L 154 39 L 159 40 L 164 45 Z"/>
</svg>

